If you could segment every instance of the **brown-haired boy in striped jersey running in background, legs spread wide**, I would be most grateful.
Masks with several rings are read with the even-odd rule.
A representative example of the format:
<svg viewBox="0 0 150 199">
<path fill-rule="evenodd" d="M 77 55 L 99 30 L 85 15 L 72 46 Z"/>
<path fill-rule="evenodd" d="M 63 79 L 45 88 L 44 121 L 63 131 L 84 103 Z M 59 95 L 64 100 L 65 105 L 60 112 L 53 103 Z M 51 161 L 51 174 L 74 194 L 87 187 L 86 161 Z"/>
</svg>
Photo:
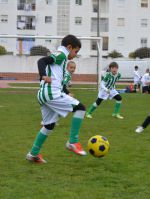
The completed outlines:
<svg viewBox="0 0 150 199">
<path fill-rule="evenodd" d="M 105 76 L 102 78 L 102 81 L 100 83 L 98 98 L 86 112 L 87 118 L 92 118 L 92 113 L 101 104 L 101 102 L 110 98 L 116 100 L 115 109 L 112 116 L 118 119 L 123 119 L 123 117 L 119 114 L 120 106 L 122 103 L 122 97 L 115 90 L 115 83 L 117 80 L 120 79 L 120 77 L 121 74 L 118 72 L 118 64 L 116 62 L 110 63 L 109 72 L 106 72 Z"/>
</svg>

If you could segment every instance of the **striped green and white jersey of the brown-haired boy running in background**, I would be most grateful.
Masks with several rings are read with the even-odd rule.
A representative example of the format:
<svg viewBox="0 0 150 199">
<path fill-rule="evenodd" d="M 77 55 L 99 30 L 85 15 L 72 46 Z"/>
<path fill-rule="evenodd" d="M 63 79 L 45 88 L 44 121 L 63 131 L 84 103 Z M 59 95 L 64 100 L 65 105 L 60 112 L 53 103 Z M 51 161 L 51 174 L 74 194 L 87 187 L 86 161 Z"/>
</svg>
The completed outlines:
<svg viewBox="0 0 150 199">
<path fill-rule="evenodd" d="M 107 72 L 102 77 L 101 88 L 106 90 L 106 91 L 115 88 L 115 83 L 120 78 L 121 78 L 121 74 L 120 73 L 117 73 L 116 75 L 113 75 L 111 72 Z"/>
</svg>

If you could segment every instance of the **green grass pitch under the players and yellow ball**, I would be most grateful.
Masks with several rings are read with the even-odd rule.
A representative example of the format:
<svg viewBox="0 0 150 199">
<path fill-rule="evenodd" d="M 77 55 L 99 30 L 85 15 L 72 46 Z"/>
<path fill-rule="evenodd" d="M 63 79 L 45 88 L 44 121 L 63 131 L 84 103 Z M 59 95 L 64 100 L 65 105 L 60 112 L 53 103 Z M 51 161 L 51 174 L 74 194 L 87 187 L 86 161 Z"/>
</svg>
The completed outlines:
<svg viewBox="0 0 150 199">
<path fill-rule="evenodd" d="M 84 148 L 96 134 L 108 138 L 106 157 L 80 157 L 65 149 L 71 115 L 61 119 L 42 154 L 48 161 L 25 160 L 40 129 L 36 90 L 0 89 L 0 198 L 2 199 L 149 199 L 150 127 L 134 132 L 149 114 L 150 95 L 122 94 L 124 120 L 111 117 L 114 101 L 104 102 L 85 119 L 80 141 Z M 97 91 L 73 90 L 88 107 Z"/>
</svg>

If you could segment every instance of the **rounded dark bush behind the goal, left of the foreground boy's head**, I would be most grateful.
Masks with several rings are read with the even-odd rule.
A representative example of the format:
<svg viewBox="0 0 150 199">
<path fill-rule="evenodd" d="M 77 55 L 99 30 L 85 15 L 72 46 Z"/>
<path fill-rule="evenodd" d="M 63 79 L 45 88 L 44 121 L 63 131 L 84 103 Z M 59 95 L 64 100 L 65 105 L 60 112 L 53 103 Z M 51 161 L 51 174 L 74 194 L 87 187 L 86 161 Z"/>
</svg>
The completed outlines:
<svg viewBox="0 0 150 199">
<path fill-rule="evenodd" d="M 30 49 L 30 55 L 31 56 L 36 56 L 36 55 L 42 55 L 42 56 L 47 56 L 50 54 L 50 50 L 44 46 L 33 46 Z"/>
</svg>

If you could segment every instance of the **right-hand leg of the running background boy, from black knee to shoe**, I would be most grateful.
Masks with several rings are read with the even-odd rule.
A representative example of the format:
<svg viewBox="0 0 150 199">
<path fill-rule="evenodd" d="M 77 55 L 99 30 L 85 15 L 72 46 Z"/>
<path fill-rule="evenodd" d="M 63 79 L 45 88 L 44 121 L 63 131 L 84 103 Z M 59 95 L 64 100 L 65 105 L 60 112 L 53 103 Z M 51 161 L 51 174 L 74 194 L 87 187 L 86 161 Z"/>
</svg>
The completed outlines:
<svg viewBox="0 0 150 199">
<path fill-rule="evenodd" d="M 120 115 L 122 97 L 119 94 L 117 94 L 113 98 L 116 100 L 116 103 L 115 103 L 115 107 L 114 107 L 114 113 L 112 114 L 112 116 L 114 116 L 118 119 L 123 119 L 123 117 Z"/>
</svg>

